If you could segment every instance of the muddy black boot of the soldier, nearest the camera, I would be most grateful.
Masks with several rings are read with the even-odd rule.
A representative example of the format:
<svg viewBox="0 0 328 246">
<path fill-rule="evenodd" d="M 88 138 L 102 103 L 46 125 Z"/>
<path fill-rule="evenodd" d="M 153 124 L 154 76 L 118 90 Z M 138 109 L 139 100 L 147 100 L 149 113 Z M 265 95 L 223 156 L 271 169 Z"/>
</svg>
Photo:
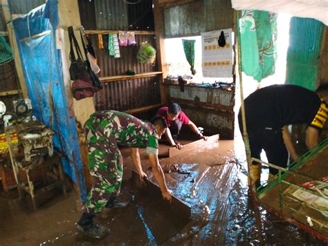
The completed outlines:
<svg viewBox="0 0 328 246">
<path fill-rule="evenodd" d="M 91 238 L 103 238 L 109 234 L 109 229 L 95 223 L 94 217 L 93 214 L 83 213 L 76 228 Z"/>
</svg>

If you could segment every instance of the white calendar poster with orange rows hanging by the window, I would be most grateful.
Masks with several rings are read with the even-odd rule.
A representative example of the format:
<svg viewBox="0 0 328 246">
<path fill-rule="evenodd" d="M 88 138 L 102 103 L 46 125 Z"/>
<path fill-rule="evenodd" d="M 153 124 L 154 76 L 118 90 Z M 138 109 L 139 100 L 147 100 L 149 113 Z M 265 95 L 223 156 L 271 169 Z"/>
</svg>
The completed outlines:
<svg viewBox="0 0 328 246">
<path fill-rule="evenodd" d="M 233 29 L 201 33 L 203 77 L 233 77 Z"/>
</svg>

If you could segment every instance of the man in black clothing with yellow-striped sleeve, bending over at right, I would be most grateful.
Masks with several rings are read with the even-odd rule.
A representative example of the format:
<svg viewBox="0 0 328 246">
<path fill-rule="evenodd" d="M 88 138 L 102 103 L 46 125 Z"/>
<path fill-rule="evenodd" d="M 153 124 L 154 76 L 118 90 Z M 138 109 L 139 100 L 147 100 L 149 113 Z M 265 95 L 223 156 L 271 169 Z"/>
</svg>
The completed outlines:
<svg viewBox="0 0 328 246">
<path fill-rule="evenodd" d="M 291 160 L 299 157 L 287 129 L 289 124 L 307 124 L 307 148 L 312 149 L 318 144 L 328 114 L 328 84 L 320 86 L 316 92 L 294 85 L 267 86 L 250 94 L 244 103 L 251 156 L 259 159 L 264 149 L 269 163 L 286 167 L 289 154 Z M 240 110 L 238 120 L 243 133 Z M 257 185 L 260 167 L 253 162 Z M 270 167 L 269 172 L 275 175 L 277 169 Z"/>
</svg>

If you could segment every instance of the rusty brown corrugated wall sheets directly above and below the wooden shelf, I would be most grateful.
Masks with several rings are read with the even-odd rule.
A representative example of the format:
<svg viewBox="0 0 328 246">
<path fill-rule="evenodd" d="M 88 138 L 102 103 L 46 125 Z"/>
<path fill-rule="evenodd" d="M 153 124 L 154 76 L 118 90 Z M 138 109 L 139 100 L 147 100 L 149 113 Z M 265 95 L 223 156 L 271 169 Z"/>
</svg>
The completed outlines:
<svg viewBox="0 0 328 246">
<path fill-rule="evenodd" d="M 130 69 L 136 73 L 149 73 L 156 71 L 157 66 L 151 64 L 140 64 L 136 61 L 139 44 L 147 41 L 155 46 L 154 35 L 136 35 L 137 44 L 134 46 L 120 46 L 121 58 L 109 56 L 107 48 L 98 48 L 98 35 L 89 35 L 95 44 L 98 65 L 100 66 L 100 77 L 125 75 Z M 102 35 L 104 47 L 108 44 L 108 35 Z M 161 103 L 160 84 L 158 77 L 129 79 L 125 81 L 106 83 L 104 88 L 95 97 L 95 110 L 115 109 L 126 111 L 142 106 Z"/>
</svg>

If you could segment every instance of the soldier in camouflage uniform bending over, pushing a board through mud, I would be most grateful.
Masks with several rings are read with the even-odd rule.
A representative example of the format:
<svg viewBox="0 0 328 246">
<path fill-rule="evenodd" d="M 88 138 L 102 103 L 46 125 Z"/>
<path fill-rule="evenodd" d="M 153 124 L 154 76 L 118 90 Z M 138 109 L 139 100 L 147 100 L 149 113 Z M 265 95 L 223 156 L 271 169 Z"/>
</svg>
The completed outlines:
<svg viewBox="0 0 328 246">
<path fill-rule="evenodd" d="M 84 133 L 89 149 L 89 170 L 93 176 L 93 188 L 89 192 L 77 228 L 95 238 L 105 236 L 108 229 L 93 222 L 95 214 L 107 207 L 109 200 L 120 191 L 123 161 L 118 144 L 130 146 L 134 165 L 140 179 L 147 177 L 140 164 L 138 148 L 146 148 L 154 177 L 163 198 L 171 200 L 161 166 L 158 162 L 158 139 L 167 127 L 161 116 L 151 123 L 118 111 L 93 113 L 84 124 Z"/>
</svg>

